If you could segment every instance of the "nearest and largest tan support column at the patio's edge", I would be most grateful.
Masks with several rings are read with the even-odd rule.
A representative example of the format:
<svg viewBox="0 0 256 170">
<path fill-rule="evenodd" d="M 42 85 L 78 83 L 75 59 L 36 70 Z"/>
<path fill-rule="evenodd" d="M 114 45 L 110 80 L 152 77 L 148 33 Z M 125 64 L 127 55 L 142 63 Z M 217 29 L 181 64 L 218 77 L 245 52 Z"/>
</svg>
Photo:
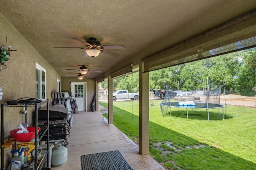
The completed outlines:
<svg viewBox="0 0 256 170">
<path fill-rule="evenodd" d="M 144 64 L 140 64 L 140 100 L 139 100 L 139 152 L 149 152 L 149 73 L 144 72 Z"/>
</svg>

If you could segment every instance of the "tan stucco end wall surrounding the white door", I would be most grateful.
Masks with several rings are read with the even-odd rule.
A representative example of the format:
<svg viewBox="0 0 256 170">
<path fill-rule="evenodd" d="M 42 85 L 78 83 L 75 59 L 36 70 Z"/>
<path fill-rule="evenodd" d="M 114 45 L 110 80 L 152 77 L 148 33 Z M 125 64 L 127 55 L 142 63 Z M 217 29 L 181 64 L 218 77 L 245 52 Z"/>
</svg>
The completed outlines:
<svg viewBox="0 0 256 170">
<path fill-rule="evenodd" d="M 95 80 L 92 78 L 84 78 L 83 80 L 78 80 L 76 77 L 62 77 L 61 78 L 61 91 L 62 92 L 69 92 L 70 89 L 70 82 L 86 82 L 87 86 L 87 111 L 91 111 L 91 104 L 95 94 Z"/>
</svg>

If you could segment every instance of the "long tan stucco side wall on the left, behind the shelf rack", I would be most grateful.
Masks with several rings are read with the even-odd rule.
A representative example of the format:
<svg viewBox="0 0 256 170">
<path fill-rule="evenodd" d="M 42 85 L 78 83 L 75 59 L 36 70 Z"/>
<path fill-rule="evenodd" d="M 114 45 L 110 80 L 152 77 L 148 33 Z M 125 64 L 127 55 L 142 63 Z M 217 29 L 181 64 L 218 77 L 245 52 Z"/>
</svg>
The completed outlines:
<svg viewBox="0 0 256 170">
<path fill-rule="evenodd" d="M 19 98 L 36 98 L 36 69 L 35 62 L 46 69 L 46 98 L 50 101 L 51 92 L 56 92 L 57 78 L 61 80 L 60 75 L 42 58 L 42 56 L 26 41 L 26 37 L 15 29 L 15 27 L 0 13 L 0 43 L 7 43 L 8 47 L 12 43 L 11 57 L 5 64 L 7 68 L 0 71 L 0 86 L 4 96 L 0 103 Z M 24 25 L 25 26 L 25 25 Z M 40 37 L 38 37 L 40 38 Z M 51 103 L 51 102 L 50 102 Z M 4 136 L 10 135 L 9 131 L 16 129 L 19 123 L 25 122 L 25 115 L 20 111 L 23 107 L 6 107 L 4 109 Z M 34 121 L 34 108 L 28 108 L 28 124 Z M 5 160 L 12 156 L 10 149 L 5 150 Z"/>
</svg>

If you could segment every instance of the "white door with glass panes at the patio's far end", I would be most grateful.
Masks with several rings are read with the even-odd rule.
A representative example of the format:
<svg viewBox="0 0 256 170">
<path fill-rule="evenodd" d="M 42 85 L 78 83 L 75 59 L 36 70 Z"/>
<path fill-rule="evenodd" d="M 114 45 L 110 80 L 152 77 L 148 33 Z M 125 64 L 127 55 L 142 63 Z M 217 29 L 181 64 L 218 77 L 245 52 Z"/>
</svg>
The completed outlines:
<svg viewBox="0 0 256 170">
<path fill-rule="evenodd" d="M 76 100 L 78 111 L 87 111 L 86 82 L 71 82 L 71 92 Z"/>
</svg>

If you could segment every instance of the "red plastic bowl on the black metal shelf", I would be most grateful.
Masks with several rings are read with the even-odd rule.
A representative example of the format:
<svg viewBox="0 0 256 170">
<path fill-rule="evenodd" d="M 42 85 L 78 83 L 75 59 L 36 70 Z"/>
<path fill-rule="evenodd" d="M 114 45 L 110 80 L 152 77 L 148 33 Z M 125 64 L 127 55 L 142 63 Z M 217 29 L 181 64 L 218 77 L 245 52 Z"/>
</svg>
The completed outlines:
<svg viewBox="0 0 256 170">
<path fill-rule="evenodd" d="M 37 127 L 37 133 L 40 131 L 40 127 Z M 10 131 L 12 137 L 18 142 L 29 142 L 35 138 L 35 127 L 27 127 L 28 133 L 16 133 L 20 129 L 14 129 Z"/>
</svg>

